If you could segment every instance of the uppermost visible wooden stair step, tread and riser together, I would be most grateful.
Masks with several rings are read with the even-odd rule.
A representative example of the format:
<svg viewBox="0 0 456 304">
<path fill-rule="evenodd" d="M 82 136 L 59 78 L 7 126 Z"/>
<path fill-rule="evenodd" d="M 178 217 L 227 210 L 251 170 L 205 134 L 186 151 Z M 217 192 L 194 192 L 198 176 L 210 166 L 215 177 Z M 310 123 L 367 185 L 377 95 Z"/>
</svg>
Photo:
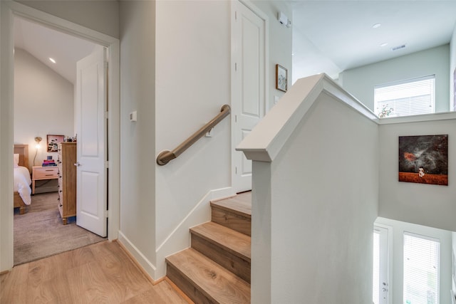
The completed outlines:
<svg viewBox="0 0 456 304">
<path fill-rule="evenodd" d="M 252 193 L 246 192 L 211 201 L 212 221 L 250 236 L 252 234 Z"/>
</svg>

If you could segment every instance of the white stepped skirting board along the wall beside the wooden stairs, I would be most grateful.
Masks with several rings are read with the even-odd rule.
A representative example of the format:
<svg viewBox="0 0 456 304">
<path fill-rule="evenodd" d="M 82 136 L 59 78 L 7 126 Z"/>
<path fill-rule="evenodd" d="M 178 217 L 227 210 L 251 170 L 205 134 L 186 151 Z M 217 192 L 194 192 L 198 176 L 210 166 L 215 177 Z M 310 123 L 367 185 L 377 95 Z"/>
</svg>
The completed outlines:
<svg viewBox="0 0 456 304">
<path fill-rule="evenodd" d="M 193 209 L 185 216 L 176 228 L 167 236 L 160 246 L 157 246 L 157 265 L 155 270 L 156 278 L 166 275 L 165 258 L 173 253 L 190 247 L 190 227 L 196 226 L 211 220 L 209 202 L 234 196 L 236 193 L 232 187 L 214 189 L 207 192 L 199 200 Z M 155 278 L 155 277 L 154 277 Z"/>
</svg>

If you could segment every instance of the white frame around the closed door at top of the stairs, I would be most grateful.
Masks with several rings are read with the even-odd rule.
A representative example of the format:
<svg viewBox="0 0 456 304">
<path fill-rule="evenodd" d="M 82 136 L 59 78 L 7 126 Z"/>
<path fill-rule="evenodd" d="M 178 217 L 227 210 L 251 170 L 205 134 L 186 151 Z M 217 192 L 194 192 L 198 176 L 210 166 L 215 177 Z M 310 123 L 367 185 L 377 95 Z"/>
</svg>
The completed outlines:
<svg viewBox="0 0 456 304">
<path fill-rule="evenodd" d="M 236 58 L 235 58 L 235 51 L 234 51 L 234 46 L 236 45 L 236 41 L 239 41 L 240 37 L 237 35 L 237 32 L 234 30 L 234 14 L 236 14 L 236 4 L 239 2 L 239 4 L 244 5 L 247 7 L 247 9 L 250 9 L 251 11 L 254 12 L 261 20 L 263 20 L 264 23 L 264 113 L 263 116 L 266 115 L 266 112 L 268 110 L 268 100 L 269 100 L 269 18 L 266 14 L 264 14 L 261 9 L 259 9 L 257 6 L 252 4 L 251 1 L 249 0 L 237 0 L 237 1 L 230 1 L 231 2 L 231 19 L 230 19 L 230 45 L 231 45 L 231 55 L 230 55 L 230 62 L 231 62 L 231 105 L 233 108 L 234 103 L 237 101 L 235 100 L 234 96 L 235 92 L 239 90 L 237 86 L 234 83 L 234 73 L 236 73 L 235 70 L 235 64 L 236 64 Z M 235 167 L 236 167 L 236 147 L 239 143 L 236 142 L 236 134 L 234 132 L 234 124 L 235 124 L 235 115 L 232 113 L 231 116 L 231 185 L 233 187 L 234 192 L 238 192 L 236 189 L 237 182 L 234 180 L 236 178 L 236 172 L 235 172 Z"/>
</svg>

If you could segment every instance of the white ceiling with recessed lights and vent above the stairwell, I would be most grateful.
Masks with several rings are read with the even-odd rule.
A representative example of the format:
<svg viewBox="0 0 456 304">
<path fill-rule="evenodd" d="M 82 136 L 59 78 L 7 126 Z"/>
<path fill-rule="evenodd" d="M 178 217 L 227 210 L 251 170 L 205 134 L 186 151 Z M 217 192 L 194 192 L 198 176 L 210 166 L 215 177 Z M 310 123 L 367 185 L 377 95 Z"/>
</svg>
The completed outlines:
<svg viewBox="0 0 456 304">
<path fill-rule="evenodd" d="M 321 72 L 338 78 L 346 69 L 442 46 L 455 29 L 456 0 L 290 2 L 293 80 Z M 397 46 L 405 48 L 391 51 Z"/>
</svg>

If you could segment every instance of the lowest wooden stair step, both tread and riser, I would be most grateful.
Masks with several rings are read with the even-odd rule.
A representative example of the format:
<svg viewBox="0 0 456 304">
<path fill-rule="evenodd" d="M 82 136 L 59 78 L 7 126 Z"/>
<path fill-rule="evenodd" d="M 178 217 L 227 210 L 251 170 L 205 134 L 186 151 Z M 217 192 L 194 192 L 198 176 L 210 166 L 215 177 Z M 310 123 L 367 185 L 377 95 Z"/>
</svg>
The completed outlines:
<svg viewBox="0 0 456 304">
<path fill-rule="evenodd" d="M 166 258 L 167 277 L 195 303 L 250 303 L 250 284 L 193 248 Z"/>
</svg>

